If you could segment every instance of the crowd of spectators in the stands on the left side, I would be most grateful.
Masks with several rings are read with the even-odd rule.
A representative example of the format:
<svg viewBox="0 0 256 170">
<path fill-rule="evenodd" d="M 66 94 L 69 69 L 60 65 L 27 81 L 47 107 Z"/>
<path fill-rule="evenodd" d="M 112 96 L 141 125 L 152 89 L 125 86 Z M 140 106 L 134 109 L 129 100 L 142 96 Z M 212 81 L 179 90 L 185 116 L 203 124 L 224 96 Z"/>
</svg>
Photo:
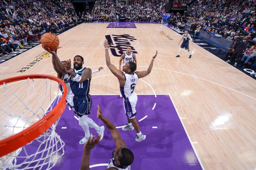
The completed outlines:
<svg viewBox="0 0 256 170">
<path fill-rule="evenodd" d="M 44 32 L 60 33 L 78 20 L 71 0 L 1 1 L 0 54 L 27 46 Z"/>
</svg>

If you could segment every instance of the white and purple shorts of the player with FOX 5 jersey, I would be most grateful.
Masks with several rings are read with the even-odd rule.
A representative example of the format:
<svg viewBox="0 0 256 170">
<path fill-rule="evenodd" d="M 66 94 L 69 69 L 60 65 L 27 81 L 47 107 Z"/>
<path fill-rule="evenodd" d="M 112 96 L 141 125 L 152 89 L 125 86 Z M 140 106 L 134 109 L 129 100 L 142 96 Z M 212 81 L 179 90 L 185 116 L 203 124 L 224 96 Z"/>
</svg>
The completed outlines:
<svg viewBox="0 0 256 170">
<path fill-rule="evenodd" d="M 130 119 L 133 119 L 137 113 L 136 113 L 136 103 L 138 101 L 138 97 L 136 94 L 130 96 L 130 97 L 126 97 L 124 98 L 124 112 L 126 114 L 126 116 Z"/>
</svg>

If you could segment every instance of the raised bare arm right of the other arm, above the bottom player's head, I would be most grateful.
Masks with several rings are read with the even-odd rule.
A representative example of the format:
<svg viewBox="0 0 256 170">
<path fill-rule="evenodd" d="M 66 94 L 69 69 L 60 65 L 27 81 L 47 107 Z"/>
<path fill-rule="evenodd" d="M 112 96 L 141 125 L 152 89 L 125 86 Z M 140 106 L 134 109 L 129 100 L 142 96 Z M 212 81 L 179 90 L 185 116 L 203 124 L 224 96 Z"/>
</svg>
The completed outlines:
<svg viewBox="0 0 256 170">
<path fill-rule="evenodd" d="M 97 117 L 100 118 L 100 120 L 102 120 L 102 122 L 110 130 L 112 138 L 116 143 L 116 149 L 119 149 L 121 147 L 127 147 L 124 141 L 122 140 L 119 132 L 117 131 L 116 126 L 107 117 L 102 115 L 99 105 L 98 105 Z"/>
</svg>

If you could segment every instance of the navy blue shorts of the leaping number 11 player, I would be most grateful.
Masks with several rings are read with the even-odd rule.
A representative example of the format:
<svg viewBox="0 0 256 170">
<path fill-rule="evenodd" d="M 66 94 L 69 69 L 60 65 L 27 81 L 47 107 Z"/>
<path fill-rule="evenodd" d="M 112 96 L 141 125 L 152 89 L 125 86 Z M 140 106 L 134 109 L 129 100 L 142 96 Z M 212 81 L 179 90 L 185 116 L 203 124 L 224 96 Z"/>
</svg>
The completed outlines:
<svg viewBox="0 0 256 170">
<path fill-rule="evenodd" d="M 92 107 L 91 95 L 85 97 L 73 97 L 74 109 L 77 116 L 82 117 L 83 115 L 89 115 Z"/>
</svg>

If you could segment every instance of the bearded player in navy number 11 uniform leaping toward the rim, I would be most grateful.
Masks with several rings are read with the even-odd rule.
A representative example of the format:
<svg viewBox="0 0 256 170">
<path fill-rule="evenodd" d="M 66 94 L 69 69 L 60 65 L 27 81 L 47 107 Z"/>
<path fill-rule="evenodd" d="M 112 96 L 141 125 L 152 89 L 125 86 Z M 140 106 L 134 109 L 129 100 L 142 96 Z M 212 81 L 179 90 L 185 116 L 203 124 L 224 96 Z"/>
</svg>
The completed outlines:
<svg viewBox="0 0 256 170">
<path fill-rule="evenodd" d="M 64 63 L 66 71 L 71 75 L 69 79 L 70 88 L 74 94 L 73 103 L 75 113 L 79 117 L 79 125 L 82 126 L 85 132 L 84 138 L 82 138 L 79 144 L 85 144 L 88 138 L 92 134 L 89 131 L 89 124 L 93 127 L 97 133 L 101 135 L 100 140 L 103 138 L 104 126 L 99 126 L 88 117 L 92 107 L 92 98 L 89 94 L 90 83 L 92 79 L 92 70 L 90 68 L 83 67 L 84 58 L 80 55 L 74 57 L 74 69 L 71 68 L 71 60 L 67 60 Z"/>
</svg>

